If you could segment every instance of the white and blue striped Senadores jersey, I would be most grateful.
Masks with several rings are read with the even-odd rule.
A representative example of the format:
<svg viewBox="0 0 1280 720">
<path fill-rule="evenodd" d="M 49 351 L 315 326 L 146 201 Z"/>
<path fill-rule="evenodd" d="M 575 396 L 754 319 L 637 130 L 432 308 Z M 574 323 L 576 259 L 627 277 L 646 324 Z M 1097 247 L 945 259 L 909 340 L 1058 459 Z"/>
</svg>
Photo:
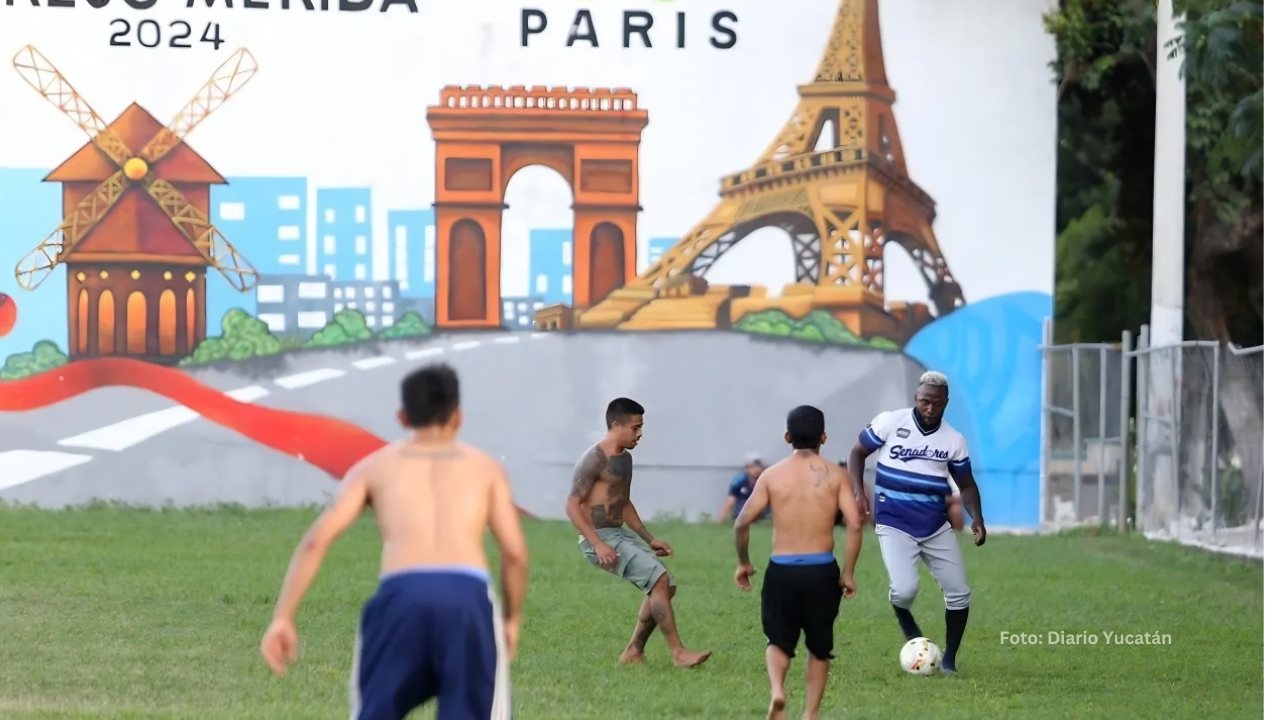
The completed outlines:
<svg viewBox="0 0 1280 720">
<path fill-rule="evenodd" d="M 915 538 L 936 534 L 947 523 L 951 473 L 969 470 L 969 446 L 946 420 L 925 432 L 911 407 L 881 413 L 858 441 L 879 451 L 876 461 L 876 524 Z"/>
</svg>

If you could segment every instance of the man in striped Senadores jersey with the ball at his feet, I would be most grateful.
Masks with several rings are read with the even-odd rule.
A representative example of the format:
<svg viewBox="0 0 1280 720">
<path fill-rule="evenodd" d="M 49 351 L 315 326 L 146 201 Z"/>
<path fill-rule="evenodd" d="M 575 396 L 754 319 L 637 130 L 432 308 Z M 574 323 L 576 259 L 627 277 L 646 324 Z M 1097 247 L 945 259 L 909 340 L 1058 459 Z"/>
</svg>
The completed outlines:
<svg viewBox="0 0 1280 720">
<path fill-rule="evenodd" d="M 906 639 L 923 633 L 911 615 L 919 589 L 915 569 L 923 559 L 942 588 L 946 602 L 947 639 L 942 671 L 956 671 L 956 653 L 969 621 L 969 582 L 960 541 L 947 519 L 947 500 L 954 486 L 973 519 L 974 543 L 987 542 L 982 500 L 969 465 L 969 447 L 955 428 L 942 419 L 947 406 L 947 377 L 928 372 L 915 389 L 915 407 L 877 415 L 858 436 L 849 452 L 854 495 L 864 514 L 870 502 L 863 489 L 867 457 L 881 451 L 876 462 L 876 536 L 888 574 L 888 601 Z M 948 477 L 950 475 L 950 477 Z"/>
</svg>

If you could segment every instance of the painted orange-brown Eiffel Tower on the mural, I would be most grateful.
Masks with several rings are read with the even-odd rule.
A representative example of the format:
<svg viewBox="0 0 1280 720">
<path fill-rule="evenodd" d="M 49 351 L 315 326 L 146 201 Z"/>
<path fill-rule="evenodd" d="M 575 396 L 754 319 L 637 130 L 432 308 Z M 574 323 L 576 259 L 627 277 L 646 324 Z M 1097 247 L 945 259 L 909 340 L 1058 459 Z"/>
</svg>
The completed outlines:
<svg viewBox="0 0 1280 720">
<path fill-rule="evenodd" d="M 657 263 L 570 323 L 726 328 L 760 310 L 800 318 L 826 309 L 864 338 L 905 342 L 933 313 L 927 304 L 886 304 L 888 242 L 910 254 L 938 315 L 964 304 L 933 236 L 933 200 L 906 170 L 877 0 L 841 0 L 818 72 L 799 91 L 795 113 L 755 164 L 721 179 L 716 209 Z M 827 126 L 833 147 L 818 150 Z M 795 284 L 781 297 L 765 297 L 759 287 L 708 286 L 703 275 L 716 260 L 763 227 L 790 234 Z"/>
</svg>

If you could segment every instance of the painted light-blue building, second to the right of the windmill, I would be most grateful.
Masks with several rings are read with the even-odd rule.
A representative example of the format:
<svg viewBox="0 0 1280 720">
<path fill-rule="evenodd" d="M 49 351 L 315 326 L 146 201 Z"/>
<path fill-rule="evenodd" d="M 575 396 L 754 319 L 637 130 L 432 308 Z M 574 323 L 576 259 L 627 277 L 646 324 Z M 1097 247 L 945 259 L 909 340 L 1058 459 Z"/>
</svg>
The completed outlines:
<svg viewBox="0 0 1280 720">
<path fill-rule="evenodd" d="M 316 190 L 316 272 L 333 281 L 374 278 L 372 191 Z"/>
</svg>

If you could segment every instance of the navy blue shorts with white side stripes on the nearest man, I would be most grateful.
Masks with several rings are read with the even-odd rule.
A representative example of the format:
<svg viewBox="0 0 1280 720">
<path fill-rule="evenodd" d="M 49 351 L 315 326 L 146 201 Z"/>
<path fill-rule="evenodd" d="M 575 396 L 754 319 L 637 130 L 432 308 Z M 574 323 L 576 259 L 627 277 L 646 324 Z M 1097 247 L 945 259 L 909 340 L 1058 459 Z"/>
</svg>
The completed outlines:
<svg viewBox="0 0 1280 720">
<path fill-rule="evenodd" d="M 495 607 L 489 575 L 480 569 L 384 575 L 360 615 L 351 719 L 399 720 L 433 698 L 439 717 L 511 717 Z"/>
</svg>

